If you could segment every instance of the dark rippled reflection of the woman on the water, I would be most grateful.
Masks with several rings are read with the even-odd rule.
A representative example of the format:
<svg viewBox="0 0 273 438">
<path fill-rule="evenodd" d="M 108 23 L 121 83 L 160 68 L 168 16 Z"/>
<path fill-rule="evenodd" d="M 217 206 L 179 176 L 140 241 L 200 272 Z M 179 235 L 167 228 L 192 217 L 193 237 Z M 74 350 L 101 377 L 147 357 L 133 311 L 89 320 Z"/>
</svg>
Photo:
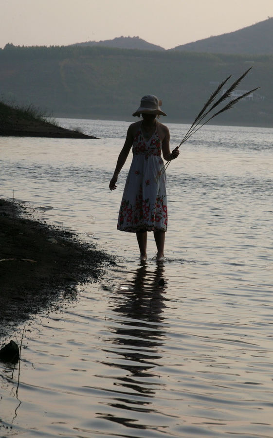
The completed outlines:
<svg viewBox="0 0 273 438">
<path fill-rule="evenodd" d="M 151 269 L 152 268 L 152 269 Z M 160 376 L 153 372 L 156 361 L 162 357 L 166 326 L 163 325 L 162 311 L 167 289 L 164 278 L 164 263 L 148 265 L 141 261 L 137 271 L 126 284 L 121 284 L 113 298 L 113 311 L 118 319 L 113 319 L 109 330 L 113 337 L 105 339 L 111 348 L 104 351 L 114 355 L 107 363 L 110 367 L 121 368 L 126 376 L 115 377 L 114 386 L 118 397 L 112 397 L 105 404 L 110 407 L 134 411 L 134 418 L 111 413 L 97 413 L 99 418 L 122 423 L 124 426 L 148 429 L 145 414 L 157 412 L 152 403 L 156 391 L 164 386 Z M 104 376 L 100 376 L 104 377 Z M 136 412 L 141 413 L 139 419 Z M 140 422 L 142 424 L 140 424 Z"/>
</svg>

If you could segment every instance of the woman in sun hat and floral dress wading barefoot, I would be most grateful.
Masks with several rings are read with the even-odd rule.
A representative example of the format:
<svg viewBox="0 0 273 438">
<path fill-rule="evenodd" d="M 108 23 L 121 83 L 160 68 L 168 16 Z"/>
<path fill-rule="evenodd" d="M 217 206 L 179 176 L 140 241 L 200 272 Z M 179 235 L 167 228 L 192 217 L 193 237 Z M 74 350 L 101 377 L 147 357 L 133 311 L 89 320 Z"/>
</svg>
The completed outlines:
<svg viewBox="0 0 273 438">
<path fill-rule="evenodd" d="M 169 130 L 156 119 L 166 115 L 156 96 L 148 94 L 141 99 L 140 107 L 133 116 L 143 120 L 132 123 L 121 150 L 109 189 L 117 188 L 118 175 L 133 146 L 130 166 L 121 201 L 117 229 L 136 233 L 140 258 L 147 258 L 147 231 L 154 232 L 157 259 L 164 258 L 165 231 L 167 231 L 166 175 L 161 170 L 164 162 L 178 157 L 178 147 L 170 152 Z"/>
</svg>

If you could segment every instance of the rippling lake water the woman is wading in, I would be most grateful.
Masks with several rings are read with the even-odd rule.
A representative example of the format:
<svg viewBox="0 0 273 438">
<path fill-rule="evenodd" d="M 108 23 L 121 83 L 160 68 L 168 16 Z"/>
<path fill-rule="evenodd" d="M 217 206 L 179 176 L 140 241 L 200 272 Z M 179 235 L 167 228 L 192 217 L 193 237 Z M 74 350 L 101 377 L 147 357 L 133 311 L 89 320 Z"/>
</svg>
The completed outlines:
<svg viewBox="0 0 273 438">
<path fill-rule="evenodd" d="M 116 230 L 130 160 L 108 189 L 128 123 L 60 123 L 101 139 L 0 138 L 0 196 L 118 261 L 26 324 L 18 397 L 0 364 L 0 437 L 272 438 L 273 131 L 204 127 L 182 146 L 167 260 L 149 234 L 141 264 Z M 175 147 L 187 127 L 168 126 Z"/>
</svg>

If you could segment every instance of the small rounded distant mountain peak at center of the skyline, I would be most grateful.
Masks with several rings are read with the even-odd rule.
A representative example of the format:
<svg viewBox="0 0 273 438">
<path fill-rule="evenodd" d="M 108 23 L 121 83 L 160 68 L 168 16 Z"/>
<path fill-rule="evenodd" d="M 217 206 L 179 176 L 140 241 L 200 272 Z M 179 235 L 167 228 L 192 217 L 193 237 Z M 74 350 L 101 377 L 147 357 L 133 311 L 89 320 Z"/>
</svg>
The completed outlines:
<svg viewBox="0 0 273 438">
<path fill-rule="evenodd" d="M 114 39 L 106 39 L 104 41 L 86 41 L 82 43 L 72 44 L 73 46 L 104 46 L 117 47 L 119 49 L 139 49 L 139 50 L 161 50 L 163 47 L 151 44 L 140 37 L 118 37 Z"/>
</svg>

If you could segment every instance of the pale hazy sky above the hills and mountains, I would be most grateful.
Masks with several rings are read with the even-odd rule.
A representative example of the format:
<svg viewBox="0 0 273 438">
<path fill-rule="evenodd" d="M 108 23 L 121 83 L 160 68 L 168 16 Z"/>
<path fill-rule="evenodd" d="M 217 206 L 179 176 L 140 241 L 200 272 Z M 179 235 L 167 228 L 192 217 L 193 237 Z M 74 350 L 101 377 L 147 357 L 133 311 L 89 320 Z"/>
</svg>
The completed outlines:
<svg viewBox="0 0 273 438">
<path fill-rule="evenodd" d="M 273 17 L 273 0 L 0 0 L 0 47 L 140 37 L 170 49 Z"/>
</svg>

